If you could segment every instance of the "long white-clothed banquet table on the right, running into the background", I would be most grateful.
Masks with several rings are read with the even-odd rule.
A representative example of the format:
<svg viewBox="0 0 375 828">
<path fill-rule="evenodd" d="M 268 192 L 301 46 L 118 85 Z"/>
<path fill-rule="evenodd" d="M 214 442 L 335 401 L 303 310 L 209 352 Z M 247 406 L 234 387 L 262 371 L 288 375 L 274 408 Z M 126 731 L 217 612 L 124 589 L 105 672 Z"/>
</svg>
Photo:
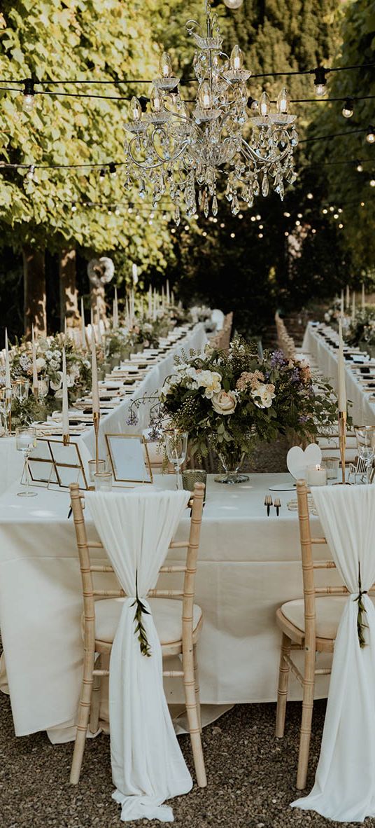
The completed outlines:
<svg viewBox="0 0 375 828">
<path fill-rule="evenodd" d="M 339 337 L 329 325 L 309 322 L 302 349 L 313 355 L 321 373 L 337 391 Z M 350 414 L 358 426 L 375 424 L 375 362 L 359 348 L 344 347 L 347 396 L 352 402 Z M 373 388 L 368 387 L 373 378 Z"/>
</svg>

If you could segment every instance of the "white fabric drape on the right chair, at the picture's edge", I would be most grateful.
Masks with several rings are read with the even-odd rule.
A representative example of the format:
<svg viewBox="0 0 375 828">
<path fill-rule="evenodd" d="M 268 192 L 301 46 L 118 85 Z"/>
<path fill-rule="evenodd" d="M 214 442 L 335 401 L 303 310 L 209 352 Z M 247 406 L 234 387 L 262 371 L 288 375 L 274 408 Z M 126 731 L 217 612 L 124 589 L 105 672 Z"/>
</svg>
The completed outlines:
<svg viewBox="0 0 375 828">
<path fill-rule="evenodd" d="M 375 609 L 367 595 L 375 581 L 375 486 L 325 487 L 314 489 L 313 497 L 350 595 L 334 645 L 315 785 L 292 805 L 331 820 L 362 822 L 375 816 Z M 358 567 L 364 647 L 357 629 Z"/>
</svg>

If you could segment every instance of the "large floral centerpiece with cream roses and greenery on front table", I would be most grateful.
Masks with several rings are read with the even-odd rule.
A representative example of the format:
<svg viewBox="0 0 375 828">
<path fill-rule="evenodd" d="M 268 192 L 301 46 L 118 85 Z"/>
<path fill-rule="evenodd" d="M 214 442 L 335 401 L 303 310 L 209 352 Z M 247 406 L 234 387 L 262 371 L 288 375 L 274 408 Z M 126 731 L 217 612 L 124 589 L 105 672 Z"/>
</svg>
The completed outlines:
<svg viewBox="0 0 375 828">
<path fill-rule="evenodd" d="M 228 352 L 207 346 L 203 355 L 175 357 L 175 373 L 159 399 L 161 416 L 189 433 L 191 453 L 204 457 L 214 450 L 229 474 L 257 440 L 288 432 L 311 437 L 337 417 L 332 388 L 313 381 L 307 363 L 281 351 L 259 359 L 239 337 Z"/>
</svg>

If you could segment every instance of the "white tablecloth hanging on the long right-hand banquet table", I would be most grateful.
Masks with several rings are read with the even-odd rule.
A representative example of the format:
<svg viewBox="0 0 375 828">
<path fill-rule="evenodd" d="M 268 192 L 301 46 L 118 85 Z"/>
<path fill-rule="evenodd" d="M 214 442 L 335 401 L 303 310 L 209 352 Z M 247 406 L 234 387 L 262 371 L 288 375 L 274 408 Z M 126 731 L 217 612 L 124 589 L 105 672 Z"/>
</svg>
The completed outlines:
<svg viewBox="0 0 375 828">
<path fill-rule="evenodd" d="M 338 337 L 337 331 L 334 331 L 328 325 L 316 325 L 316 323 L 309 322 L 305 330 L 305 337 L 302 349 L 305 352 L 312 354 L 320 368 L 321 373 L 327 377 L 333 388 L 337 391 L 337 363 L 339 349 L 334 348 L 325 339 L 325 336 L 332 338 L 335 341 Z M 358 350 L 358 358 L 362 352 Z M 363 363 L 362 367 L 366 367 L 367 363 Z M 373 366 L 372 372 L 375 373 Z M 363 374 L 363 377 L 366 375 Z M 362 378 L 363 378 L 362 377 Z M 358 363 L 347 361 L 345 364 L 345 378 L 346 378 L 346 392 L 353 407 L 350 407 L 349 413 L 353 418 L 355 426 L 373 426 L 375 425 L 375 388 L 373 392 L 368 392 L 363 389 L 361 383 L 361 374 L 359 373 Z"/>
</svg>

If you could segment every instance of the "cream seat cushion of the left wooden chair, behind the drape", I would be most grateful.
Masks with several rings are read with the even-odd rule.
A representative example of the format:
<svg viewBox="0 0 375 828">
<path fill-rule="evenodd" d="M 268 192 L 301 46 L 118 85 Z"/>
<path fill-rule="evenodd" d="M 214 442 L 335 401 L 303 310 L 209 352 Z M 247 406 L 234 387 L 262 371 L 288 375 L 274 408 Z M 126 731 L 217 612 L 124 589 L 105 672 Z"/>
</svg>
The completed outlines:
<svg viewBox="0 0 375 828">
<path fill-rule="evenodd" d="M 123 598 L 107 598 L 95 602 L 95 638 L 108 643 L 113 642 L 118 628 Z M 171 598 L 150 598 L 148 603 L 155 622 L 161 644 L 171 644 L 182 640 L 182 601 Z M 202 610 L 194 604 L 193 629 L 198 626 Z"/>
</svg>

